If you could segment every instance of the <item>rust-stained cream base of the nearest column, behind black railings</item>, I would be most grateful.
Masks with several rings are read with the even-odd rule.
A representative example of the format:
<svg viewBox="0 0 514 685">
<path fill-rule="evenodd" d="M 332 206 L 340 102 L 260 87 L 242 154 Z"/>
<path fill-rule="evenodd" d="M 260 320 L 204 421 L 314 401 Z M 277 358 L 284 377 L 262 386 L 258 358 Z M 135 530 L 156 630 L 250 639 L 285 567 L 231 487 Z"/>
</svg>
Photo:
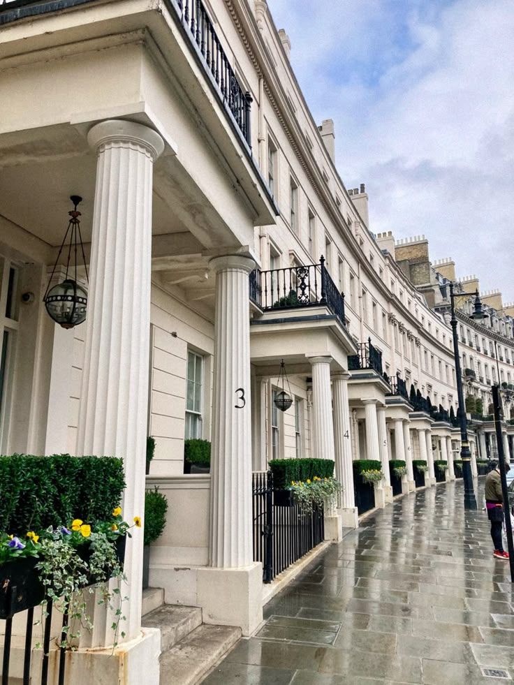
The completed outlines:
<svg viewBox="0 0 514 685">
<path fill-rule="evenodd" d="M 11 673 L 23 669 L 22 648 L 12 652 Z M 161 654 L 161 631 L 157 628 L 143 628 L 134 640 L 124 642 L 112 651 L 103 649 L 78 649 L 66 654 L 66 683 L 73 685 L 159 685 Z M 18 658 L 19 657 L 19 658 Z M 17 662 L 19 661 L 19 668 Z M 41 649 L 34 650 L 32 659 L 36 672 L 41 671 Z M 57 647 L 50 647 L 50 669 L 48 682 L 57 683 L 59 654 Z M 10 682 L 10 679 L 9 679 Z M 15 682 L 18 680 L 15 678 Z"/>
</svg>

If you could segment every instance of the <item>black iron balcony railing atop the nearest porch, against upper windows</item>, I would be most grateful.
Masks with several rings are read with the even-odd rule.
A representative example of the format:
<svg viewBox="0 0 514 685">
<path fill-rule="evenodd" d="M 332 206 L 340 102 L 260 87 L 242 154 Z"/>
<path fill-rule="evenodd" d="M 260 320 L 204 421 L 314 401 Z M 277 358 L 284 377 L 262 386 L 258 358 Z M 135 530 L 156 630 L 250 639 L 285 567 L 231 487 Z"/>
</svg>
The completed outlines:
<svg viewBox="0 0 514 685">
<path fill-rule="evenodd" d="M 221 91 L 221 98 L 226 103 L 240 129 L 251 147 L 250 105 L 251 95 L 244 92 L 236 78 L 233 68 L 221 47 L 216 31 L 207 10 L 201 0 L 177 0 L 182 10 L 182 24 L 189 36 L 203 55 L 205 65 Z"/>
</svg>

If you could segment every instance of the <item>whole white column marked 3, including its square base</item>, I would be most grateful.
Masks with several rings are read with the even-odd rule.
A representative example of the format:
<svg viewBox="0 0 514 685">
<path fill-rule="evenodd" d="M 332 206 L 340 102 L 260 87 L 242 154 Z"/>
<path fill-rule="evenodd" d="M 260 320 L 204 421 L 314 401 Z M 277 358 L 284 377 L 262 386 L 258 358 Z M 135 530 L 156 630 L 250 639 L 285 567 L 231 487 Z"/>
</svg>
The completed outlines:
<svg viewBox="0 0 514 685">
<path fill-rule="evenodd" d="M 216 272 L 212 393 L 210 568 L 197 571 L 204 621 L 240 626 L 262 620 L 262 569 L 254 564 L 251 518 L 250 321 L 254 260 L 210 261 Z"/>
</svg>

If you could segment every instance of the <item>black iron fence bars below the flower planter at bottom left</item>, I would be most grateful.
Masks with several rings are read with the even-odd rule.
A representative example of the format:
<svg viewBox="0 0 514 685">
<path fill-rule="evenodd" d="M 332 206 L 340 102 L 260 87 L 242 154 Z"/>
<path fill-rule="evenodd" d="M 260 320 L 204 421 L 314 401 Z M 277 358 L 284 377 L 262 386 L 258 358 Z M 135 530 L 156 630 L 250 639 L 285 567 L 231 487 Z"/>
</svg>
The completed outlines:
<svg viewBox="0 0 514 685">
<path fill-rule="evenodd" d="M 27 559 L 31 561 L 31 559 Z M 27 607 L 26 603 L 19 603 L 20 590 L 13 583 L 8 584 L 6 592 L 3 593 L 3 605 L 6 609 L 3 623 L 5 624 L 5 631 L 3 635 L 3 654 L 2 654 L 2 672 L 1 672 L 1 685 L 9 685 L 10 681 L 10 665 L 11 665 L 11 652 L 12 652 L 12 638 L 13 638 L 13 619 L 15 614 L 27 610 L 27 625 L 25 627 L 24 635 L 24 649 L 23 649 L 23 676 L 22 685 L 35 685 L 41 683 L 41 685 L 47 685 L 48 683 L 48 666 L 50 662 L 50 639 L 52 637 L 52 601 L 48 601 L 44 605 L 43 619 L 43 643 L 42 651 L 43 658 L 41 659 L 41 674 L 38 672 L 34 674 L 31 672 L 31 655 L 33 650 L 33 626 L 34 626 L 34 608 L 39 604 L 41 597 L 38 597 L 36 604 L 32 604 Z M 2 616 L 4 614 L 2 613 Z M 61 632 L 61 642 L 66 640 L 66 631 L 68 626 L 68 614 L 63 614 L 62 619 L 62 632 Z M 66 649 L 64 647 L 59 647 L 59 666 L 58 666 L 58 685 L 64 685 L 64 669 L 66 665 Z M 34 670 L 34 669 L 33 669 Z M 20 682 L 19 679 L 15 679 L 15 682 Z M 52 682 L 54 680 L 52 679 Z"/>
</svg>

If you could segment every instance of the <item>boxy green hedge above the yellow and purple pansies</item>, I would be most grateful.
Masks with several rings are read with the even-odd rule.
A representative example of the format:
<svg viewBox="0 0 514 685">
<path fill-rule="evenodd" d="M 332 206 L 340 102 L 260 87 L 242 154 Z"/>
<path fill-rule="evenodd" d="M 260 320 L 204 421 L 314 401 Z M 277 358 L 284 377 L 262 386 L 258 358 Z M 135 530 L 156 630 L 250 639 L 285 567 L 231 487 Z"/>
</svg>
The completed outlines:
<svg viewBox="0 0 514 685">
<path fill-rule="evenodd" d="M 52 455 L 0 457 L 0 532 L 109 519 L 125 487 L 122 459 Z"/>
</svg>

